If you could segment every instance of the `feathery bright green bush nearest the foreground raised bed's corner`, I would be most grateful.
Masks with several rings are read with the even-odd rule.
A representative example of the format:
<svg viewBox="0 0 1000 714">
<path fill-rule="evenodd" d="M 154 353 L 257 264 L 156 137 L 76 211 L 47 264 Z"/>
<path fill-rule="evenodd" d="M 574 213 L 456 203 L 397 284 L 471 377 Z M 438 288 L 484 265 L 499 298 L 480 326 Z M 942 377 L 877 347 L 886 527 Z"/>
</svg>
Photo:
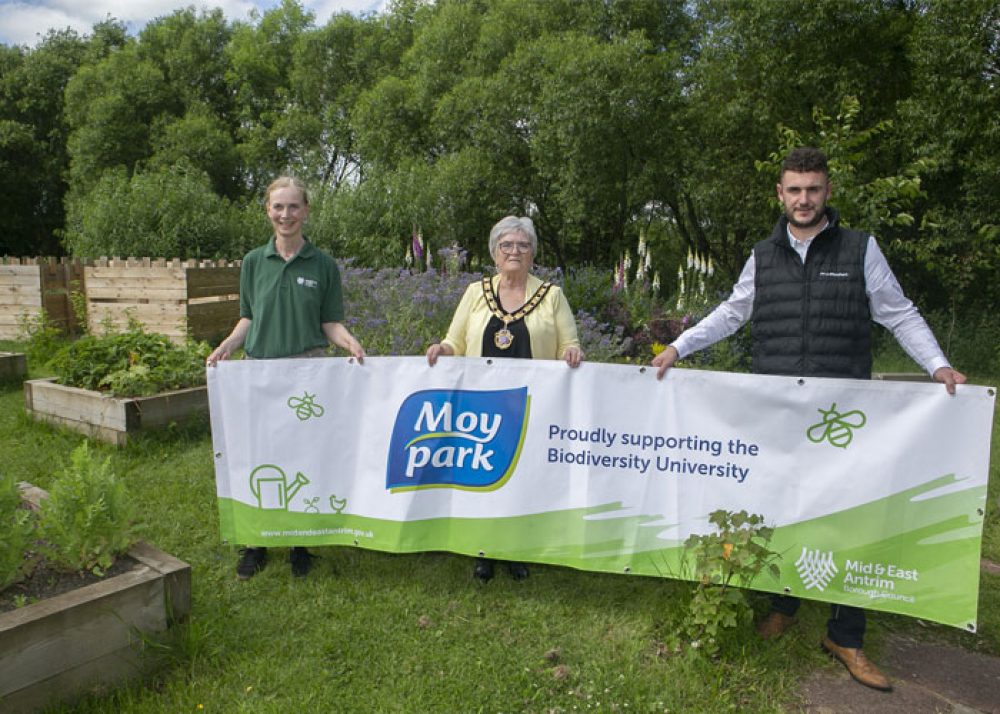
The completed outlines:
<svg viewBox="0 0 1000 714">
<path fill-rule="evenodd" d="M 135 509 L 111 457 L 101 461 L 82 443 L 42 502 L 39 533 L 46 558 L 65 570 L 101 575 L 132 545 L 136 529 Z"/>
</svg>

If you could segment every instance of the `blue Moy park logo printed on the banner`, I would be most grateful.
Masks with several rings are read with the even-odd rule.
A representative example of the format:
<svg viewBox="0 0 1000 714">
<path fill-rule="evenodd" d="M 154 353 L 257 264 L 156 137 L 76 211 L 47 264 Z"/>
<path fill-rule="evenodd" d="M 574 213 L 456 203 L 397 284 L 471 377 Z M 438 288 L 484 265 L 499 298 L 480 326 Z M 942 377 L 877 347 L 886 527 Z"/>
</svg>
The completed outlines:
<svg viewBox="0 0 1000 714">
<path fill-rule="evenodd" d="M 521 455 L 530 403 L 527 387 L 411 394 L 392 429 L 385 487 L 500 488 Z"/>
</svg>

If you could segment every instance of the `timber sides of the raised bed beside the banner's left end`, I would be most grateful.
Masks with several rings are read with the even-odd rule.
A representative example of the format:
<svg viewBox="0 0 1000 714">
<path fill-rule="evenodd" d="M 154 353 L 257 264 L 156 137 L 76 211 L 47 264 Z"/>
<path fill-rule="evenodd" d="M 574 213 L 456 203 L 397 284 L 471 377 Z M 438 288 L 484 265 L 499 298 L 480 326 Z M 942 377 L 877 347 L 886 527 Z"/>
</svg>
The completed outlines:
<svg viewBox="0 0 1000 714">
<path fill-rule="evenodd" d="M 102 392 L 56 384 L 54 378 L 24 383 L 28 417 L 121 445 L 141 429 L 182 422 L 208 410 L 204 386 L 149 397 L 111 397 Z"/>
</svg>

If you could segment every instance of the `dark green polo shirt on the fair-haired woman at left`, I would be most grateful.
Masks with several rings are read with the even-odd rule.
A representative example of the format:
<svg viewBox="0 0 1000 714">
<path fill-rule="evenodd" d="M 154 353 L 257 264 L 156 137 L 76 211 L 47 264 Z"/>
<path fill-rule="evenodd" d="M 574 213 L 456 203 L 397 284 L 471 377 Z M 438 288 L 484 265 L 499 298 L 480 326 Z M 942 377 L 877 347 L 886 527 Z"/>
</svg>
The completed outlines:
<svg viewBox="0 0 1000 714">
<path fill-rule="evenodd" d="M 243 259 L 240 317 L 251 321 L 245 349 L 255 359 L 325 347 L 320 326 L 344 320 L 337 264 L 308 240 L 286 261 L 272 238 Z"/>
</svg>

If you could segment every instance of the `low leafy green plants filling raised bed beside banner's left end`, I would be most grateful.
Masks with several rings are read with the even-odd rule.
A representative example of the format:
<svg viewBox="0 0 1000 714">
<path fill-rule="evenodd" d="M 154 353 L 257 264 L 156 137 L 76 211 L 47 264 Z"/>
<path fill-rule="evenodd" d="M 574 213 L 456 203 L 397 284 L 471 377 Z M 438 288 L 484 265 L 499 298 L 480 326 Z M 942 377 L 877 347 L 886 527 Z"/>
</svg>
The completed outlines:
<svg viewBox="0 0 1000 714">
<path fill-rule="evenodd" d="M 208 351 L 202 342 L 175 345 L 130 318 L 125 331 L 84 335 L 67 345 L 49 366 L 60 384 L 140 397 L 204 384 Z"/>
</svg>

